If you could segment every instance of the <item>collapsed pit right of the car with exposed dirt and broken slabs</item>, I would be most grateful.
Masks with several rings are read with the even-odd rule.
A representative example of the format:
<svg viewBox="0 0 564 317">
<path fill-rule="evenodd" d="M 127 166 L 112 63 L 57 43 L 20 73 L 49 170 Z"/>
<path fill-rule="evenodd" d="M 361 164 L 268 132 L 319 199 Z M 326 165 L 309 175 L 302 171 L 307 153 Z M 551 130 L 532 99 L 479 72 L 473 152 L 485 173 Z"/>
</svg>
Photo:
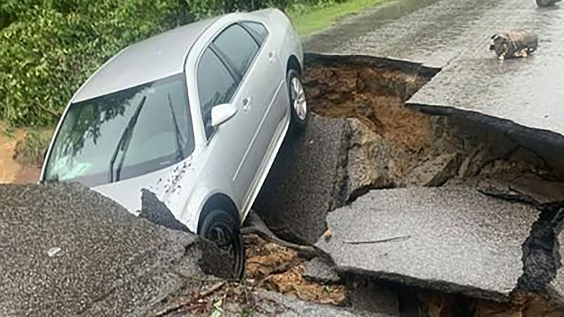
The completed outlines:
<svg viewBox="0 0 564 317">
<path fill-rule="evenodd" d="M 266 204 L 255 206 L 288 240 L 320 237 L 333 268 L 316 262 L 304 275 L 333 282 L 336 271 L 345 282 L 360 275 L 463 294 L 474 299 L 468 316 L 487 311 L 479 299 L 508 303 L 507 313 L 517 299 L 527 303 L 523 313 L 537 303 L 533 316 L 558 311 L 558 164 L 498 127 L 407 107 L 436 68 L 368 56 L 306 59 L 316 114 L 305 135 L 287 141 L 295 154 L 278 159 L 259 196 Z M 398 302 L 417 302 L 401 287 L 394 292 Z M 415 306 L 428 312 L 427 304 Z"/>
</svg>

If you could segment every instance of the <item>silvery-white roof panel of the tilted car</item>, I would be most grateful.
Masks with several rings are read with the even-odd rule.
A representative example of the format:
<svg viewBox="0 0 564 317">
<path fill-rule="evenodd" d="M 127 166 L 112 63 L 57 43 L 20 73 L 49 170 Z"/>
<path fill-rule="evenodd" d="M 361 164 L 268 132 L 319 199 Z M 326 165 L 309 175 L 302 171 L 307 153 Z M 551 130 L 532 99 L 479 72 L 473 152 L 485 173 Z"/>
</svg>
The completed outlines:
<svg viewBox="0 0 564 317">
<path fill-rule="evenodd" d="M 73 102 L 182 73 L 188 51 L 220 17 L 177 27 L 130 45 L 99 68 L 73 98 Z"/>
</svg>

